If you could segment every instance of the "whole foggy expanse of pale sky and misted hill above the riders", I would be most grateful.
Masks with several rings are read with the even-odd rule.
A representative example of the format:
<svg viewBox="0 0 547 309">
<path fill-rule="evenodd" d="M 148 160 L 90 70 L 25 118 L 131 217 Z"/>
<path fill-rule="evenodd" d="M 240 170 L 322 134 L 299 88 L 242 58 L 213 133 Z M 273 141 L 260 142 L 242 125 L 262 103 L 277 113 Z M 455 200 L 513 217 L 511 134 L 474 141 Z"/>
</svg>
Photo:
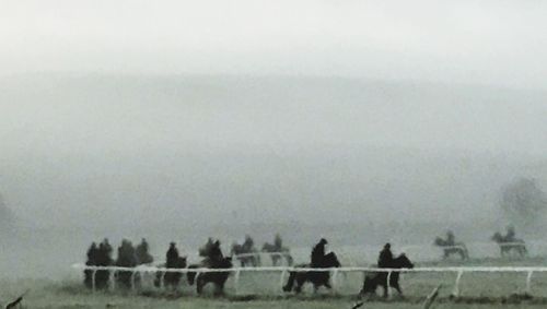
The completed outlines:
<svg viewBox="0 0 547 309">
<path fill-rule="evenodd" d="M 0 193 L 50 223 L 491 214 L 545 183 L 546 12 L 0 0 Z"/>
</svg>

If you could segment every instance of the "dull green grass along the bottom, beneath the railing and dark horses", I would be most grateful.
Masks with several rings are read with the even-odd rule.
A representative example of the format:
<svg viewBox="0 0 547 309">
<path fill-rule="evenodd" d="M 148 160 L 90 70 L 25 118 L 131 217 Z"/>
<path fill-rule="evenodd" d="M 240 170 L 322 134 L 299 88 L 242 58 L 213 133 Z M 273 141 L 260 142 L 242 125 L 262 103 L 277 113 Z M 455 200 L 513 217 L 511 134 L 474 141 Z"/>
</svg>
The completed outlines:
<svg viewBox="0 0 547 309">
<path fill-rule="evenodd" d="M 422 263 L 428 265 L 457 265 L 458 262 Z M 475 260 L 466 265 L 544 265 L 544 259 L 525 261 Z M 443 287 L 434 308 L 543 308 L 547 306 L 547 274 L 535 274 L 533 298 L 525 298 L 526 274 L 465 274 L 462 296 L 451 299 L 454 274 L 405 274 L 401 280 L 405 298 L 388 300 L 380 297 L 368 299 L 361 308 L 421 308 L 424 297 L 439 284 Z M 280 292 L 279 273 L 242 273 L 237 296 L 233 276 L 226 284 L 226 296 L 216 298 L 211 290 L 206 296 L 195 296 L 194 288 L 184 283 L 176 292 L 142 287 L 139 292 L 114 290 L 92 293 L 81 281 L 49 280 L 4 281 L 0 285 L 0 304 L 5 306 L 28 289 L 25 308 L 351 308 L 362 274 L 338 275 L 335 292 L 323 290 L 314 295 L 306 288 L 300 296 Z"/>
</svg>

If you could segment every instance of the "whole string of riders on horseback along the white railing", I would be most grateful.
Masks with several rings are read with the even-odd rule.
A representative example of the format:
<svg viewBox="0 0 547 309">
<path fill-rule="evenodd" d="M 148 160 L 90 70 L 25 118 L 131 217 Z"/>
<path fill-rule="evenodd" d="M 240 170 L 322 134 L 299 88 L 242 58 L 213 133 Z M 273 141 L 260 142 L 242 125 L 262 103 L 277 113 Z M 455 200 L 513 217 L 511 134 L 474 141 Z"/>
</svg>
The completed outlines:
<svg viewBox="0 0 547 309">
<path fill-rule="evenodd" d="M 499 234 L 499 233 L 498 233 Z M 514 227 L 509 227 L 508 233 L 504 236 L 498 236 L 500 241 L 505 241 L 507 243 L 519 242 L 515 236 Z M 456 241 L 454 234 L 449 230 L 446 233 L 446 239 L 438 238 L 435 240 L 438 246 L 445 248 L 445 250 L 457 249 L 465 246 Z M 329 284 L 329 272 L 324 270 L 302 270 L 298 271 L 299 268 L 309 269 L 333 269 L 340 268 L 341 264 L 335 252 L 327 252 L 328 241 L 325 238 L 321 240 L 313 247 L 310 254 L 310 263 L 296 265 L 294 270 L 290 271 L 290 276 L 287 285 L 283 286 L 286 292 L 295 290 L 299 293 L 302 285 L 305 282 L 311 282 L 315 288 L 319 286 L 325 286 L 330 288 Z M 275 248 L 282 251 L 282 240 L 279 236 L 276 236 L 274 241 Z M 242 249 L 243 248 L 243 249 Z M 502 248 L 500 246 L 500 248 Z M 246 237 L 245 241 L 237 248 L 241 252 L 246 250 L 246 252 L 254 252 L 254 241 L 251 237 Z M 228 280 L 230 272 L 199 272 L 198 270 L 191 271 L 193 269 L 219 269 L 225 270 L 231 269 L 232 258 L 235 252 L 234 246 L 232 247 L 232 252 L 229 257 L 222 253 L 221 242 L 218 239 L 209 238 L 207 242 L 199 248 L 198 253 L 201 258 L 200 263 L 187 265 L 186 257 L 179 254 L 175 242 L 171 242 L 165 253 L 165 263 L 160 265 L 160 268 L 165 269 L 188 269 L 187 276 L 188 283 L 191 285 L 196 282 L 198 294 L 201 293 L 202 287 L 207 283 L 214 283 L 219 290 L 223 289 L 223 285 Z M 152 255 L 149 253 L 149 245 L 143 238 L 141 242 L 133 247 L 131 241 L 124 239 L 121 245 L 117 250 L 117 259 L 114 260 L 112 257 L 113 248 L 108 242 L 108 239 L 104 239 L 102 242 L 96 245 L 93 242 L 88 250 L 88 261 L 89 266 L 120 266 L 120 268 L 136 268 L 141 264 L 150 264 L 153 262 Z M 446 254 L 446 252 L 445 252 Z M 467 258 L 467 250 L 461 253 L 463 258 Z M 237 255 L 235 255 L 237 257 Z M 387 293 L 387 286 L 394 287 L 400 293 L 400 287 L 398 285 L 399 273 L 393 271 L 396 269 L 411 269 L 414 264 L 410 260 L 401 253 L 398 257 L 394 257 L 392 252 L 392 247 L 389 243 L 385 243 L 383 249 L 380 251 L 377 259 L 379 269 L 389 269 L 386 272 L 375 272 L 365 275 L 363 287 L 361 294 L 372 294 L 375 293 L 379 286 L 384 289 L 384 295 Z M 391 272 L 389 275 L 387 273 Z M 168 271 L 158 271 L 154 284 L 156 286 L 166 285 L 176 287 L 183 276 L 182 272 L 168 272 Z M 137 276 L 137 281 L 139 277 Z M 123 287 L 131 287 L 135 282 L 135 273 L 130 270 L 118 270 L 115 275 L 110 277 L 110 273 L 105 269 L 85 269 L 84 271 L 84 283 L 89 287 L 94 288 L 106 288 L 109 286 L 109 282 L 114 281 L 115 284 L 119 284 Z M 296 283 L 295 288 L 293 288 L 294 283 Z"/>
</svg>

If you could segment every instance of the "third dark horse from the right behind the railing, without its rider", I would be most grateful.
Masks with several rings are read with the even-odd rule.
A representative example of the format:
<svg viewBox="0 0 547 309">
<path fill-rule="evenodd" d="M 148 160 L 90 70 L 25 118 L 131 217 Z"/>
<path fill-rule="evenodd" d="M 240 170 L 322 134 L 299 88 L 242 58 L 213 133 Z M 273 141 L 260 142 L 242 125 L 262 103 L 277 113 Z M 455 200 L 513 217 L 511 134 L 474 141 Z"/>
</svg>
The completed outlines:
<svg viewBox="0 0 547 309">
<path fill-rule="evenodd" d="M 191 264 L 188 266 L 188 269 L 200 269 L 200 268 L 208 268 L 210 269 L 231 269 L 233 266 L 232 264 L 232 257 L 226 257 L 222 258 L 221 260 L 214 262 L 214 263 L 207 263 L 207 262 L 201 262 L 200 264 Z M 212 283 L 216 286 L 214 289 L 214 295 L 222 295 L 224 294 L 224 284 L 228 281 L 228 277 L 230 276 L 230 271 L 228 272 L 188 272 L 187 273 L 187 278 L 188 278 L 188 284 L 194 285 L 196 283 L 196 290 L 198 295 L 201 295 L 203 292 L 203 287 L 208 283 Z"/>
</svg>

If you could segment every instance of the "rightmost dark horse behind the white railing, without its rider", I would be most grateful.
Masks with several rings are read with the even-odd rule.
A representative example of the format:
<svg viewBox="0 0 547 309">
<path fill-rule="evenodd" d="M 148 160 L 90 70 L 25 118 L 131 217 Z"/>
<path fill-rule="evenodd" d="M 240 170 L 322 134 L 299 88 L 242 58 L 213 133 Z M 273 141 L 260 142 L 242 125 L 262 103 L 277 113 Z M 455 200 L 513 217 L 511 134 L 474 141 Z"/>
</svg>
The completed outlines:
<svg viewBox="0 0 547 309">
<path fill-rule="evenodd" d="M 393 259 L 388 266 L 389 269 L 412 269 L 414 264 L 405 253 L 401 253 L 398 258 Z M 365 274 L 363 288 L 359 292 L 359 295 L 375 294 L 377 287 L 382 286 L 384 289 L 384 297 L 387 297 L 387 272 Z M 403 290 L 399 286 L 399 272 L 392 272 L 389 275 L 389 286 L 403 295 Z"/>
</svg>

